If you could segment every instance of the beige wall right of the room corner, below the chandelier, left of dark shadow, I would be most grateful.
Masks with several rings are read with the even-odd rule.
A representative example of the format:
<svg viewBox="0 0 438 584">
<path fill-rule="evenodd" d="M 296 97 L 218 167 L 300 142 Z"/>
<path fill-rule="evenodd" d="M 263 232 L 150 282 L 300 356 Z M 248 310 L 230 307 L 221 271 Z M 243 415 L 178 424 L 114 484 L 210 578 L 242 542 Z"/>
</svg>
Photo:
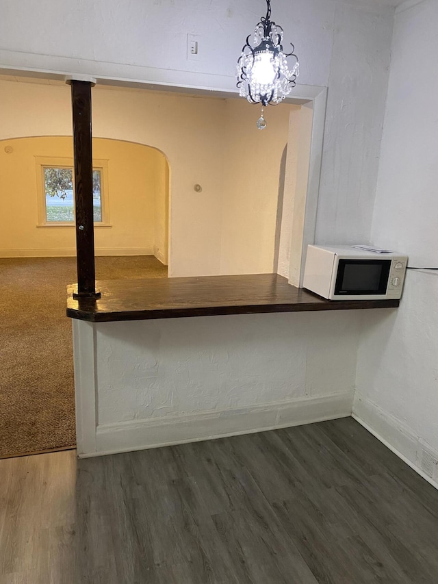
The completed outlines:
<svg viewBox="0 0 438 584">
<path fill-rule="evenodd" d="M 259 130 L 256 121 L 260 106 L 244 99 L 226 101 L 220 257 L 224 274 L 276 271 L 280 162 L 287 144 L 289 115 L 294 110 L 300 107 L 284 103 L 266 107 L 263 115 L 267 127 Z M 294 146 L 291 144 L 292 149 Z"/>
</svg>

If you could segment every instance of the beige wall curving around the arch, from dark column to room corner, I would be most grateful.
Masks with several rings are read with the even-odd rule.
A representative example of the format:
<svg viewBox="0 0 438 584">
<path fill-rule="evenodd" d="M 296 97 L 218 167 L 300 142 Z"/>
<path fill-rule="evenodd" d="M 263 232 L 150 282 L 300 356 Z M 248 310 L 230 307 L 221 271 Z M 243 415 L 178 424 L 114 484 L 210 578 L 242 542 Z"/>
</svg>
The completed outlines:
<svg viewBox="0 0 438 584">
<path fill-rule="evenodd" d="M 168 158 L 169 275 L 220 273 L 224 99 L 97 86 L 92 95 L 96 136 L 149 144 Z"/>
</svg>

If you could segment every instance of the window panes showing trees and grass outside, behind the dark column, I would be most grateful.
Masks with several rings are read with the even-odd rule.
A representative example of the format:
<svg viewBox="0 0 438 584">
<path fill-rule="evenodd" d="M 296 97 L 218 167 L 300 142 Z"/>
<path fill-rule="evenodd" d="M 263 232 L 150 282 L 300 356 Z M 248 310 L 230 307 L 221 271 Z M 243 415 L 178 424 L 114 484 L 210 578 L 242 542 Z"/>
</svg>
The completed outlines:
<svg viewBox="0 0 438 584">
<path fill-rule="evenodd" d="M 73 223 L 75 221 L 75 196 L 73 194 L 73 168 L 44 166 L 44 194 L 47 223 Z M 101 170 L 93 170 L 93 217 L 102 222 Z"/>
</svg>

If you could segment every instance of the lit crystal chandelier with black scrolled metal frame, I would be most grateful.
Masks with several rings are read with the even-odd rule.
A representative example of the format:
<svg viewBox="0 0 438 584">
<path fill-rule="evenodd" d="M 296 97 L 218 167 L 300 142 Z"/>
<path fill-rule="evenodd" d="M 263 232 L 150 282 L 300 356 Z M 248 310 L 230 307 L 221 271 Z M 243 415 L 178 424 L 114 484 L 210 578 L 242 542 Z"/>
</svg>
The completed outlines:
<svg viewBox="0 0 438 584">
<path fill-rule="evenodd" d="M 262 16 L 253 35 L 246 43 L 237 61 L 237 87 L 240 95 L 250 103 L 261 103 L 259 129 L 266 128 L 263 107 L 280 103 L 295 87 L 298 77 L 298 57 L 283 53 L 283 28 L 270 21 L 271 2 L 266 0 L 266 16 Z"/>
</svg>

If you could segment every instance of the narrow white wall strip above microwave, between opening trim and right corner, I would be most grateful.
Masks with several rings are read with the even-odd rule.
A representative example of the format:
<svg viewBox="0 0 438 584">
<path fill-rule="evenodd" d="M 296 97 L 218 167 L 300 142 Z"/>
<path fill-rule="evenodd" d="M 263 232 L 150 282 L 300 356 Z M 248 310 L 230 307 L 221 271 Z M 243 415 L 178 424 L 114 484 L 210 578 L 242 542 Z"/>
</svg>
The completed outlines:
<svg viewBox="0 0 438 584">
<path fill-rule="evenodd" d="M 392 19 L 335 6 L 317 243 L 370 238 Z"/>
</svg>

